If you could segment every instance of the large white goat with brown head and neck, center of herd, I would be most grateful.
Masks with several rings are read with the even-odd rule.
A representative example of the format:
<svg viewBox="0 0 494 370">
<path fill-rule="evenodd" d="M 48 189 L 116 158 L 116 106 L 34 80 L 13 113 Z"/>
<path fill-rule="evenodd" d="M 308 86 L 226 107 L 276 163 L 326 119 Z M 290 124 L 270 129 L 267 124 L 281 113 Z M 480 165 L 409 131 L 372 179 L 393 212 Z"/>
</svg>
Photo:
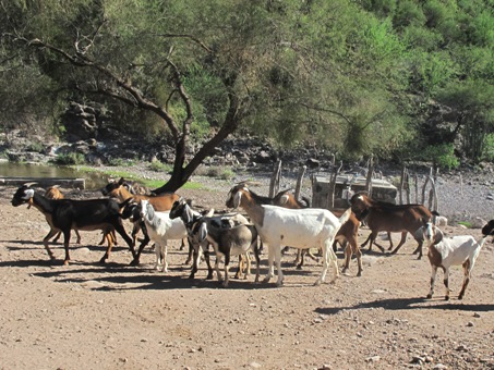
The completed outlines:
<svg viewBox="0 0 494 370">
<path fill-rule="evenodd" d="M 277 206 L 266 206 L 257 199 L 258 196 L 250 192 L 244 184 L 234 186 L 228 194 L 227 207 L 241 206 L 254 222 L 261 240 L 268 245 L 268 273 L 264 282 L 268 282 L 274 274 L 273 262 L 276 259 L 278 270 L 277 285 L 284 283 L 281 271 L 281 245 L 297 248 L 320 247 L 323 250 L 323 271 L 316 280 L 320 285 L 326 279 L 329 263 L 334 266 L 338 276 L 338 264 L 333 242 L 341 225 L 348 221 L 351 209 L 348 209 L 339 219 L 326 209 L 304 208 L 287 209 Z"/>
</svg>

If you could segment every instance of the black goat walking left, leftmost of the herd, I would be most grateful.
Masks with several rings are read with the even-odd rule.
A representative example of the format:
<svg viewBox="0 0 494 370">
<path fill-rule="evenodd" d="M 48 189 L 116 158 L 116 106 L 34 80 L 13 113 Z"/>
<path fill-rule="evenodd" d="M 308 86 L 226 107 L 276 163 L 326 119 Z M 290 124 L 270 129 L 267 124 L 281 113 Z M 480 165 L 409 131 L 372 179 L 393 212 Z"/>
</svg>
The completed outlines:
<svg viewBox="0 0 494 370">
<path fill-rule="evenodd" d="M 120 209 L 125 202 L 119 203 L 111 198 L 103 199 L 48 199 L 41 194 L 36 193 L 27 185 L 21 186 L 12 198 L 12 206 L 17 207 L 29 202 L 41 211 L 45 215 L 49 214 L 51 230 L 43 239 L 45 249 L 53 260 L 48 240 L 57 234 L 58 231 L 63 233 L 63 246 L 65 248 L 65 259 L 63 264 L 69 264 L 69 242 L 71 230 L 94 231 L 101 230 L 104 233 L 116 230 L 126 242 L 132 256 L 135 258 L 135 250 L 132 239 L 123 229 Z M 48 217 L 47 217 L 48 220 Z M 104 263 L 111 251 L 111 245 L 108 246 L 105 256 L 100 259 Z"/>
</svg>

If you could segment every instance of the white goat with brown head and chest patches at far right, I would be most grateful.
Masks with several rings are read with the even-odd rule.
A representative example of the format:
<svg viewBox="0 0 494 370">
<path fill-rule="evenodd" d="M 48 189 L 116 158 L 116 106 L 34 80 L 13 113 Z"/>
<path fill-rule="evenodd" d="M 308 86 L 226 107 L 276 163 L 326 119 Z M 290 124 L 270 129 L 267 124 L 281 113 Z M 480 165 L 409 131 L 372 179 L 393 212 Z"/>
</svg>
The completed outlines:
<svg viewBox="0 0 494 370">
<path fill-rule="evenodd" d="M 475 260 L 479 257 L 480 250 L 487 236 L 493 233 L 493 230 L 494 223 L 486 224 L 484 229 L 482 229 L 483 237 L 479 242 L 471 235 L 444 237 L 443 232 L 436 227 L 432 221 L 424 220 L 424 225 L 417 231 L 415 236 L 422 237 L 429 244 L 427 257 L 432 267 L 432 275 L 431 289 L 427 294 L 427 298 L 432 298 L 434 294 L 437 268 L 442 268 L 444 271 L 444 285 L 446 286 L 445 299 L 449 299 L 449 268 L 451 266 L 460 264 L 463 267 L 465 276 L 458 299 L 463 298 Z"/>
</svg>

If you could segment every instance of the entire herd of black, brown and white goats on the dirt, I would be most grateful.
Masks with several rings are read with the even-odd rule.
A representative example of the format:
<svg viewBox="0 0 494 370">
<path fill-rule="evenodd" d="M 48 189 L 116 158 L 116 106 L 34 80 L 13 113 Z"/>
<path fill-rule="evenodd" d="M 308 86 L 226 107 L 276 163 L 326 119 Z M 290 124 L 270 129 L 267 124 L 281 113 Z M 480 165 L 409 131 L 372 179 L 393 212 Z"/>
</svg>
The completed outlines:
<svg viewBox="0 0 494 370">
<path fill-rule="evenodd" d="M 462 299 L 469 284 L 471 271 L 479 252 L 490 235 L 494 235 L 494 220 L 482 229 L 482 237 L 475 240 L 470 235 L 445 237 L 437 227 L 435 212 L 422 205 L 391 205 L 371 199 L 363 193 L 352 196 L 347 210 L 328 211 L 311 208 L 308 199 L 299 201 L 289 190 L 280 192 L 275 197 L 264 197 L 255 194 L 244 183 L 233 186 L 227 197 L 226 206 L 231 209 L 242 208 L 246 217 L 240 213 L 215 214 L 214 210 L 200 212 L 178 194 L 144 195 L 135 194 L 123 178 L 108 183 L 101 190 L 104 198 L 75 200 L 64 198 L 58 187 L 51 187 L 45 194 L 36 192 L 34 184 L 21 186 L 12 198 L 12 205 L 17 207 L 27 203 L 35 207 L 46 218 L 50 231 L 44 237 L 43 244 L 55 260 L 49 248 L 63 234 L 65 258 L 69 264 L 69 243 L 71 232 L 77 236 L 79 231 L 101 231 L 100 242 L 107 244 L 100 262 L 110 257 L 117 234 L 126 243 L 132 252 L 132 264 L 140 263 L 141 254 L 149 242 L 155 245 L 157 270 L 168 271 L 168 240 L 182 240 L 182 247 L 189 245 L 189 256 L 185 263 L 191 263 L 190 278 L 194 279 L 202 259 L 207 263 L 207 279 L 213 279 L 213 268 L 209 261 L 209 249 L 216 255 L 215 271 L 222 286 L 229 283 L 229 267 L 232 257 L 239 258 L 236 278 L 242 273 L 246 279 L 251 270 L 251 254 L 256 262 L 255 282 L 260 279 L 261 251 L 267 245 L 268 271 L 264 282 L 274 275 L 276 262 L 277 285 L 282 285 L 281 254 L 284 247 L 298 248 L 296 263 L 302 268 L 303 258 L 311 248 L 317 248 L 322 254 L 323 269 L 315 284 L 323 283 L 328 269 L 332 267 L 333 280 L 338 276 L 336 257 L 337 243 L 344 247 L 345 264 L 342 272 L 349 269 L 352 255 L 357 257 L 358 276 L 362 274 L 361 246 L 358 244 L 359 227 L 362 223 L 371 230 L 371 234 L 362 247 L 370 243 L 382 251 L 384 248 L 376 243 L 379 232 L 401 233 L 401 240 L 393 249 L 395 254 L 403 245 L 410 233 L 418 243 L 414 252 L 422 257 L 422 246 L 427 248 L 427 257 L 432 267 L 431 286 L 427 297 L 434 293 L 435 276 L 438 268 L 444 271 L 446 299 L 449 299 L 448 275 L 451 266 L 463 267 L 463 283 L 458 298 Z M 124 219 L 132 222 L 132 233 L 125 232 Z M 138 233 L 143 234 L 141 239 Z M 53 240 L 50 242 L 51 238 Z M 389 239 L 390 240 L 390 239 Z M 136 243 L 140 242 L 137 250 Z M 261 242 L 261 243 L 260 243 Z M 312 255 L 311 255 L 312 256 Z M 219 263 L 224 261 L 224 275 Z"/>
</svg>

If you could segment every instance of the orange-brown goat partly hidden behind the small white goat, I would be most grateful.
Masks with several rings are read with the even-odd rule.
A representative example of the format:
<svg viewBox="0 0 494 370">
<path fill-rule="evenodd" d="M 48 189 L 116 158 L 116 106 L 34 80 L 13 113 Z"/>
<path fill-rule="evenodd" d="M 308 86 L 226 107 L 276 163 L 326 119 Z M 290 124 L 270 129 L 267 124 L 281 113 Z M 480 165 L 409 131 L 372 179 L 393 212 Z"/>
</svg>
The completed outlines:
<svg viewBox="0 0 494 370">
<path fill-rule="evenodd" d="M 155 211 L 162 212 L 169 211 L 173 206 L 173 202 L 180 199 L 180 196 L 176 193 L 168 193 L 162 195 L 142 195 L 142 194 L 131 194 L 129 189 L 125 187 L 125 180 L 121 177 L 118 182 L 110 182 L 108 183 L 103 189 L 103 195 L 113 197 L 119 199 L 120 201 L 125 201 L 126 199 L 133 198 L 133 202 L 141 203 L 141 200 L 149 200 L 149 205 L 153 206 Z M 138 222 L 134 222 L 132 229 L 132 240 L 135 244 L 136 235 L 141 230 L 145 230 L 144 222 L 141 220 Z M 138 260 L 141 257 L 141 252 L 143 251 L 144 247 L 149 243 L 149 237 L 147 233 L 144 233 L 144 239 L 141 242 L 138 246 L 137 254 L 134 258 L 133 264 L 138 264 Z M 184 246 L 184 240 L 182 240 L 182 248 Z M 190 261 L 185 262 L 189 263 Z"/>
</svg>

